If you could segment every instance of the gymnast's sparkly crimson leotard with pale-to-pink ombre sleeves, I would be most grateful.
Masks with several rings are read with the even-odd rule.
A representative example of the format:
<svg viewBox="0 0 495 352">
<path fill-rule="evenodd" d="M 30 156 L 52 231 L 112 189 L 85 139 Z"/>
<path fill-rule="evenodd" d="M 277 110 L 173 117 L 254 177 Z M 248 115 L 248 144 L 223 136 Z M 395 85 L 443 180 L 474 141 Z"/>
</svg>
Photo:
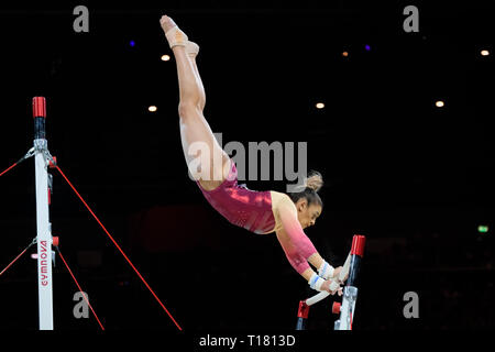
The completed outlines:
<svg viewBox="0 0 495 352">
<path fill-rule="evenodd" d="M 297 220 L 296 206 L 287 195 L 238 185 L 238 169 L 232 160 L 228 177 L 213 190 L 206 190 L 196 183 L 208 202 L 229 222 L 254 233 L 275 231 L 290 265 L 299 274 L 309 268 L 307 260 L 317 251 Z"/>
</svg>

